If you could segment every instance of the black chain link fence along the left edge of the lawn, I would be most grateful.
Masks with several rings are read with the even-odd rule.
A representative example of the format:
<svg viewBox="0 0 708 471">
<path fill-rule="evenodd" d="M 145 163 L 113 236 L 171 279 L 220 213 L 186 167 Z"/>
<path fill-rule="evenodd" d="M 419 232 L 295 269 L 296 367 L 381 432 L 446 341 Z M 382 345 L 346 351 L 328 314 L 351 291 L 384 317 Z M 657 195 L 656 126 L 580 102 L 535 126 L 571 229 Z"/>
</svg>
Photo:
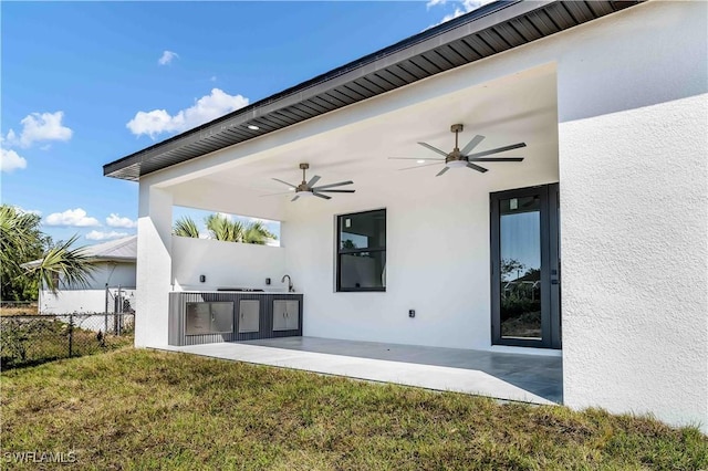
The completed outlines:
<svg viewBox="0 0 708 471">
<path fill-rule="evenodd" d="M 0 316 L 0 368 L 39 365 L 133 344 L 135 313 Z"/>
</svg>

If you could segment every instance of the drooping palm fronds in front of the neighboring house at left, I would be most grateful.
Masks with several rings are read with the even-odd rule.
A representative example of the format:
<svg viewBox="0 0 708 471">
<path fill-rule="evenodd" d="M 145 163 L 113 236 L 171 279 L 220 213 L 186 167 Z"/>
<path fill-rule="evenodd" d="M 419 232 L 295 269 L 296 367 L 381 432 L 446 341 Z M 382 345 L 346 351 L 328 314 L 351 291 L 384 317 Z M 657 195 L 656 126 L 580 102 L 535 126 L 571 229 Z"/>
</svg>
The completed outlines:
<svg viewBox="0 0 708 471">
<path fill-rule="evenodd" d="M 27 269 L 28 274 L 37 276 L 54 294 L 59 290 L 59 280 L 66 285 L 87 286 L 95 265 L 86 254 L 85 247 L 71 248 L 77 239 L 79 234 L 75 234 L 65 242 L 50 247 L 40 263 Z"/>
</svg>

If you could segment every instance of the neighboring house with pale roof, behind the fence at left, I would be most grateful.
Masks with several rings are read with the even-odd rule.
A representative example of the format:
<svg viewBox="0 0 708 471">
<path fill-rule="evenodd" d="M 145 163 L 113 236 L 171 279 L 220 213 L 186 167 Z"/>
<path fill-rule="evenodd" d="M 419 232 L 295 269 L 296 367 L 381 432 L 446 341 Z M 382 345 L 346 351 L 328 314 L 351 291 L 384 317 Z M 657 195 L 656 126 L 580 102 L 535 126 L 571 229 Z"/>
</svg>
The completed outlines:
<svg viewBox="0 0 708 471">
<path fill-rule="evenodd" d="M 116 311 L 118 287 L 125 308 L 135 306 L 135 263 L 137 236 L 86 247 L 85 254 L 95 270 L 87 286 L 73 286 L 59 279 L 59 290 L 52 293 L 42 286 L 39 311 L 43 314 L 103 313 Z M 24 266 L 39 264 L 40 260 Z M 119 310 L 118 310 L 119 311 Z"/>
</svg>

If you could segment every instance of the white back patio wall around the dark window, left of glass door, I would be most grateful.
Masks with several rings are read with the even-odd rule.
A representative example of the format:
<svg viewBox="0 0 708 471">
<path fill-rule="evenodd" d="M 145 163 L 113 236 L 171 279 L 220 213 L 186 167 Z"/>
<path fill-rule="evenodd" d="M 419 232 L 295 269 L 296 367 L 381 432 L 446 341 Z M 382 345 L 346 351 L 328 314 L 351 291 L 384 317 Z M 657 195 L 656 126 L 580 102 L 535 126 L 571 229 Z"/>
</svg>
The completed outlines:
<svg viewBox="0 0 708 471">
<path fill-rule="evenodd" d="M 304 335 L 488 349 L 489 192 L 558 180 L 555 155 L 535 164 L 485 178 L 416 170 L 396 185 L 357 184 L 356 200 L 291 205 L 281 234 L 288 270 L 305 293 Z M 378 208 L 387 218 L 386 292 L 336 293 L 335 214 Z"/>
</svg>

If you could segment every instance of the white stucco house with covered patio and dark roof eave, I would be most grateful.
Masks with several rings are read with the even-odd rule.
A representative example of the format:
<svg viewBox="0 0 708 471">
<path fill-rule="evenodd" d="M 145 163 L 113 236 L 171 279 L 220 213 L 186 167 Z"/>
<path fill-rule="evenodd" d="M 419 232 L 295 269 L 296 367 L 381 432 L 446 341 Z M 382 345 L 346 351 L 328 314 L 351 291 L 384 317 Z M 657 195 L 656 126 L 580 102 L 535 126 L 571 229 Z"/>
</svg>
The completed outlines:
<svg viewBox="0 0 708 471">
<path fill-rule="evenodd" d="M 107 164 L 139 182 L 136 345 L 168 344 L 171 292 L 289 273 L 306 336 L 562 355 L 565 405 L 708 431 L 707 17 L 494 2 Z M 455 124 L 523 161 L 436 177 Z M 356 192 L 262 197 L 301 163 Z M 173 205 L 282 221 L 282 247 L 174 238 Z"/>
</svg>

